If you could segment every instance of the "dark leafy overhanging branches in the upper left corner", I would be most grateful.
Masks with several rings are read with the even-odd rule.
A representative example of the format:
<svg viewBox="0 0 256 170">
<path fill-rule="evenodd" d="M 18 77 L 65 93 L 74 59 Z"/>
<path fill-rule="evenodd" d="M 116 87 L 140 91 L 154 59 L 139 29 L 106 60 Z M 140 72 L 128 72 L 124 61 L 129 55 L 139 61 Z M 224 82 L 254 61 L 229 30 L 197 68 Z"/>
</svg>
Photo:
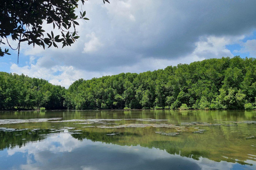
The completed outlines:
<svg viewBox="0 0 256 170">
<path fill-rule="evenodd" d="M 28 45 L 38 45 L 43 48 L 54 46 L 58 48 L 58 43 L 65 46 L 71 46 L 79 38 L 76 32 L 77 20 L 89 20 L 85 17 L 86 12 L 81 10 L 80 15 L 76 15 L 75 10 L 78 8 L 78 2 L 86 0 L 1 0 L 0 5 L 0 45 L 4 44 L 3 39 L 12 39 L 20 43 L 26 41 Z M 108 2 L 108 0 L 103 0 Z M 45 32 L 43 22 L 52 24 L 53 29 L 60 30 L 60 34 L 54 35 L 53 31 Z M 0 56 L 10 55 L 9 49 L 0 47 Z"/>
</svg>

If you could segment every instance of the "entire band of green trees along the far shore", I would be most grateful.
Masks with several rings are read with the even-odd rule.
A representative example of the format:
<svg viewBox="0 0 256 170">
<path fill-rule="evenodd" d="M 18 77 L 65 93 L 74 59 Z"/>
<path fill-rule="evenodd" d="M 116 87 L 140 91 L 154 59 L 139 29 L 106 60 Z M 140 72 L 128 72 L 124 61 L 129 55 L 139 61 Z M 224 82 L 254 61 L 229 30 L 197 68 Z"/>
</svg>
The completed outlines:
<svg viewBox="0 0 256 170">
<path fill-rule="evenodd" d="M 69 89 L 3 72 L 0 83 L 0 109 L 253 109 L 256 60 L 212 58 L 153 72 L 79 79 Z"/>
</svg>

